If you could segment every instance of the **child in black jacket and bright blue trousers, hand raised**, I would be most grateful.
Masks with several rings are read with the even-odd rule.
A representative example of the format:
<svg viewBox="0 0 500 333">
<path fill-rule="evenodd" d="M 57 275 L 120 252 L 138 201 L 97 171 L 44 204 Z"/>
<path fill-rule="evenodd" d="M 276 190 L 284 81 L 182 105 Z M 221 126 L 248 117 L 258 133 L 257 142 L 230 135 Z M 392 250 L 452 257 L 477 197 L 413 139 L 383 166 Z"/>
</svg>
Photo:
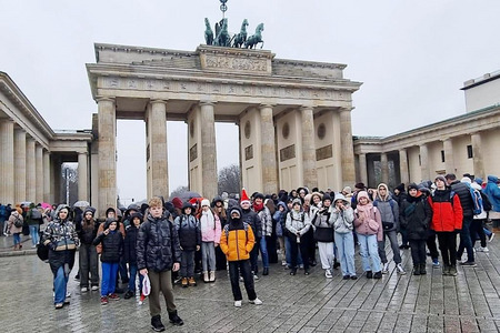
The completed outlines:
<svg viewBox="0 0 500 333">
<path fill-rule="evenodd" d="M 117 220 L 109 218 L 104 222 L 104 231 L 100 233 L 94 240 L 93 244 L 102 244 L 101 266 L 101 304 L 108 304 L 108 299 L 120 300 L 114 293 L 117 287 L 118 266 L 120 258 L 123 254 L 123 236 L 118 230 Z"/>
</svg>

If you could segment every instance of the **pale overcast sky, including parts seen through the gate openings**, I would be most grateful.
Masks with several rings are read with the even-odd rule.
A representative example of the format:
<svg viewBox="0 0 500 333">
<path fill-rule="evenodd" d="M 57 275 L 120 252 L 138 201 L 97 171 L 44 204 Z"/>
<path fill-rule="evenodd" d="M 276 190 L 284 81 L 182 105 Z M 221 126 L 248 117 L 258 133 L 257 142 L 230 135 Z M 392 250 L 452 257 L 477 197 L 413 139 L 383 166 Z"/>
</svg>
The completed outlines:
<svg viewBox="0 0 500 333">
<path fill-rule="evenodd" d="M 500 1 L 229 0 L 229 30 L 264 23 L 277 58 L 348 64 L 356 135 L 389 135 L 464 112 L 463 82 L 500 69 Z M 89 129 L 94 42 L 193 51 L 218 0 L 0 0 L 0 70 L 56 130 Z M 218 167 L 238 163 L 237 128 L 218 124 Z M 133 134 L 130 134 L 133 133 Z M 188 182 L 183 123 L 168 123 L 170 190 Z M 118 123 L 118 186 L 146 196 L 144 124 Z"/>
</svg>

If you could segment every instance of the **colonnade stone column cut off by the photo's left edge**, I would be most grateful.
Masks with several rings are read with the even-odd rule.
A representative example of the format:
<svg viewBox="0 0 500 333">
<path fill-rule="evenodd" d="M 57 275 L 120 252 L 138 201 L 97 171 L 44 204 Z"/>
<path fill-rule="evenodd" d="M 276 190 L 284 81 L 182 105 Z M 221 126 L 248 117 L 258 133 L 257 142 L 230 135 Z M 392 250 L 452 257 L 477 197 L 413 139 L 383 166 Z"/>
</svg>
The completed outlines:
<svg viewBox="0 0 500 333">
<path fill-rule="evenodd" d="M 14 201 L 14 144 L 13 121 L 10 119 L 0 122 L 0 202 L 2 204 L 16 203 Z"/>
</svg>

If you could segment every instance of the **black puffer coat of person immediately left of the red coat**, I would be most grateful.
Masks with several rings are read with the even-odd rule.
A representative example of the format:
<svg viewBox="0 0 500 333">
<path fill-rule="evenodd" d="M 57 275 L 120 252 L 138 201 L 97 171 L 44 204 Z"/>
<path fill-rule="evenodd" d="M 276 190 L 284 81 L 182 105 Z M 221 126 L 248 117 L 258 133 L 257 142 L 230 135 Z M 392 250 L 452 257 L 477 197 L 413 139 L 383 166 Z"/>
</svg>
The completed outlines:
<svg viewBox="0 0 500 333">
<path fill-rule="evenodd" d="M 423 195 L 408 195 L 401 202 L 399 221 L 409 240 L 427 240 L 432 209 Z"/>
</svg>

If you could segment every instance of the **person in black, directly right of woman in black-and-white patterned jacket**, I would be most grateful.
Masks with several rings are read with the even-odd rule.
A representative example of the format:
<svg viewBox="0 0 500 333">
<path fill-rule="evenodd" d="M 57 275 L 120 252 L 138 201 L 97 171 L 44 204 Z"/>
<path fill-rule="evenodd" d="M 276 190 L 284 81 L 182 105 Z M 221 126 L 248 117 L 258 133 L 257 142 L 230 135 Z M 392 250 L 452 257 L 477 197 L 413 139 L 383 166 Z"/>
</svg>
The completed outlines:
<svg viewBox="0 0 500 333">
<path fill-rule="evenodd" d="M 99 223 L 93 219 L 94 213 L 96 209 L 88 206 L 83 210 L 83 220 L 74 222 L 78 238 L 80 239 L 79 264 L 81 292 L 87 292 L 89 290 L 89 273 L 91 289 L 94 291 L 99 289 L 99 256 L 96 245 L 93 245 Z"/>
</svg>

